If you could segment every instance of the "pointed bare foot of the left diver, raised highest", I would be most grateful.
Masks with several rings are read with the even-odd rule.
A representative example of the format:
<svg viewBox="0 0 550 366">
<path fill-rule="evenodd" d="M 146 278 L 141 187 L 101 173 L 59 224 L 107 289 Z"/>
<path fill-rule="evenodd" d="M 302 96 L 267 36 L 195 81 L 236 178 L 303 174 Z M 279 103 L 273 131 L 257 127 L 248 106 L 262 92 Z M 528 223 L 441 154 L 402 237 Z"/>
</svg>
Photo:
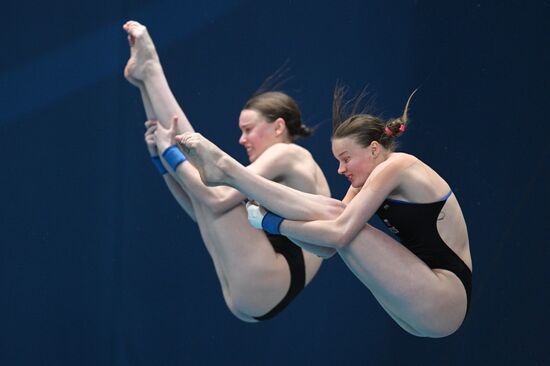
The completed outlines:
<svg viewBox="0 0 550 366">
<path fill-rule="evenodd" d="M 130 43 L 130 58 L 124 68 L 124 76 L 130 83 L 139 86 L 149 67 L 160 66 L 159 57 L 144 25 L 130 20 L 122 28 L 128 33 Z"/>
</svg>

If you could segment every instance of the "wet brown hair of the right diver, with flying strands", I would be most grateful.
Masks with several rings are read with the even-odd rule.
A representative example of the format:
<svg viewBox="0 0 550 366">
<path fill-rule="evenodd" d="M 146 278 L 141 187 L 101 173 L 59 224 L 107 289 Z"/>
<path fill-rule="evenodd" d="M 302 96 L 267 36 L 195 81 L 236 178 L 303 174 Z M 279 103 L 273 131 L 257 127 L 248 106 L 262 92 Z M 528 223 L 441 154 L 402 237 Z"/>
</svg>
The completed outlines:
<svg viewBox="0 0 550 366">
<path fill-rule="evenodd" d="M 337 84 L 334 89 L 331 139 L 352 137 L 363 147 L 369 146 L 373 141 L 378 141 L 386 149 L 394 151 L 397 147 L 396 138 L 405 132 L 409 122 L 407 112 L 416 90 L 409 96 L 403 115 L 385 121 L 381 117 L 366 113 L 365 109 L 357 112 L 366 95 L 365 90 L 351 100 L 344 102 L 346 89 L 342 84 Z M 353 104 L 350 106 L 352 102 Z"/>
</svg>

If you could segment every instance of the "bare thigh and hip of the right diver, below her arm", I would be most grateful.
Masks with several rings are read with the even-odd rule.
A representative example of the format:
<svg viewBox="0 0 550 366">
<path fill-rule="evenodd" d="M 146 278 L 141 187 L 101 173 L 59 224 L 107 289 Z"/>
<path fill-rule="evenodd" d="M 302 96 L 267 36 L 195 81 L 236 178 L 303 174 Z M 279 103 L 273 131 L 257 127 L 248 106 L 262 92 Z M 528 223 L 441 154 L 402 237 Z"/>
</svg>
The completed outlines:
<svg viewBox="0 0 550 366">
<path fill-rule="evenodd" d="M 430 269 L 401 243 L 366 225 L 338 253 L 406 331 L 417 336 L 453 333 L 466 313 L 466 291 L 451 272 Z"/>
</svg>

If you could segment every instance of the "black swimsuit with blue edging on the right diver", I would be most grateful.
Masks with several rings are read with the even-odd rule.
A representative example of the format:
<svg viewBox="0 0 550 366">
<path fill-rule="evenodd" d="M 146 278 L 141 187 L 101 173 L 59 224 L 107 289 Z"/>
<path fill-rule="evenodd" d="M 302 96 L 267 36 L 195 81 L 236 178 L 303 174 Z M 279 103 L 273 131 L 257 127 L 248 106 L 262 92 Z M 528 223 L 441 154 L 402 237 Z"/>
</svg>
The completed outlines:
<svg viewBox="0 0 550 366">
<path fill-rule="evenodd" d="M 437 231 L 437 220 L 449 192 L 441 201 L 412 203 L 386 199 L 376 211 L 386 226 L 395 233 L 407 249 L 430 268 L 453 272 L 464 285 L 468 309 L 472 291 L 472 271 L 451 249 Z"/>
</svg>

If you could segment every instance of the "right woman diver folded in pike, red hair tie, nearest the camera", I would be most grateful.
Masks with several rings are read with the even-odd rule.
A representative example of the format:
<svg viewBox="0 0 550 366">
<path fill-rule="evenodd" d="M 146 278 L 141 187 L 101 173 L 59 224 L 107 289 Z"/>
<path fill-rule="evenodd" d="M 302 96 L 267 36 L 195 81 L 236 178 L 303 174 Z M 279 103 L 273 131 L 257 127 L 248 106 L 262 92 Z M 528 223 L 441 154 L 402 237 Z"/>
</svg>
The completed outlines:
<svg viewBox="0 0 550 366">
<path fill-rule="evenodd" d="M 457 197 L 429 165 L 395 151 L 411 98 L 403 115 L 388 121 L 364 113 L 345 118 L 342 99 L 337 88 L 332 152 L 338 173 L 350 182 L 342 201 L 254 175 L 200 134 L 185 133 L 176 141 L 206 184 L 234 187 L 261 205 L 249 207 L 253 226 L 336 250 L 404 330 L 420 337 L 450 335 L 467 313 L 472 277 Z M 374 214 L 398 240 L 368 224 Z"/>
</svg>

